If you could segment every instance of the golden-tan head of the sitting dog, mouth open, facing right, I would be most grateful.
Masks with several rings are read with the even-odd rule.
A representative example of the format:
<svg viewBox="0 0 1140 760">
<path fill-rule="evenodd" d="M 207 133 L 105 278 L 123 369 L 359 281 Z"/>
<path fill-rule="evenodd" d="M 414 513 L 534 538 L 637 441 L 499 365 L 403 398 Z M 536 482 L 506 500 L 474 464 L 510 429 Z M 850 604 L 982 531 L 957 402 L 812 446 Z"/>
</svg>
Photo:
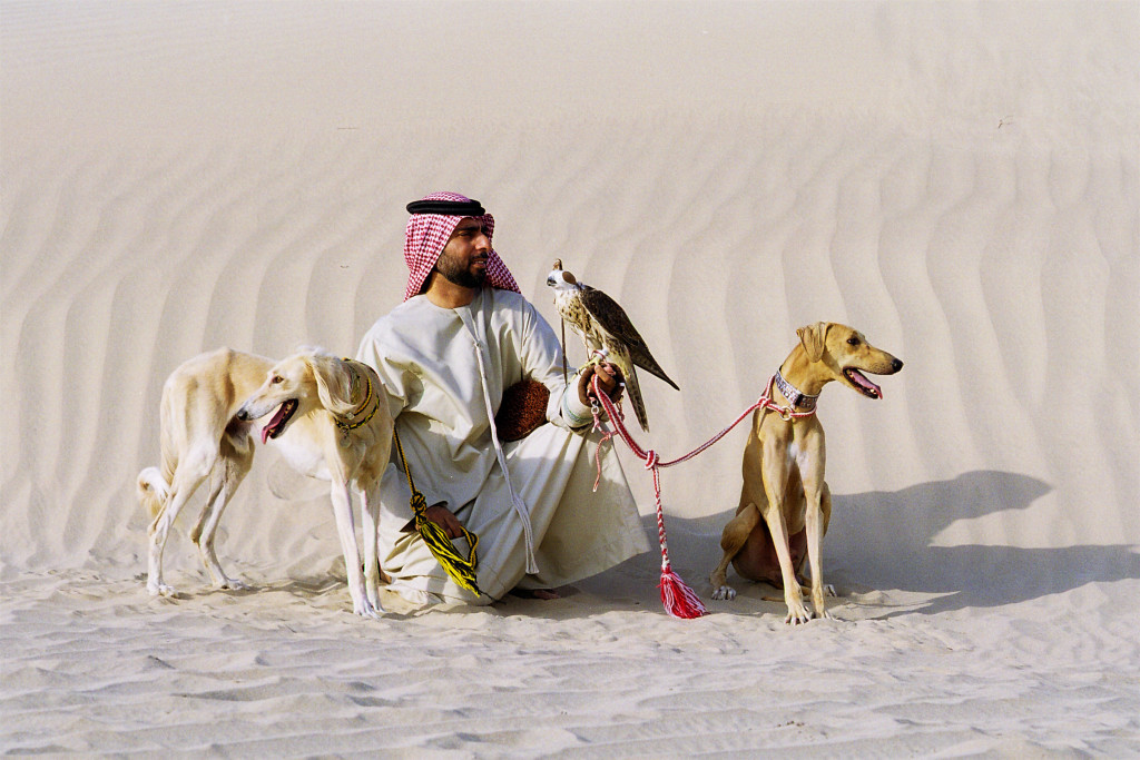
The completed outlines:
<svg viewBox="0 0 1140 760">
<path fill-rule="evenodd" d="M 882 389 L 863 376 L 894 375 L 903 362 L 866 342 L 857 329 L 837 322 L 815 322 L 796 330 L 807 358 L 825 374 L 869 399 L 881 399 Z"/>
</svg>

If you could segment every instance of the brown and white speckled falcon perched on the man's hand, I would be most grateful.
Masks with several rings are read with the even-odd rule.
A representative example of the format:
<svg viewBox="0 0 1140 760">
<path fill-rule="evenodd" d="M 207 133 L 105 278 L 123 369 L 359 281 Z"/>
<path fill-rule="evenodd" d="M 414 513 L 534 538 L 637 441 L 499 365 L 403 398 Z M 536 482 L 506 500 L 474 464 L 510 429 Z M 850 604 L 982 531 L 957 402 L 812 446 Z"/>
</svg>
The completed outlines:
<svg viewBox="0 0 1140 760">
<path fill-rule="evenodd" d="M 554 269 L 546 277 L 546 284 L 554 288 L 554 307 L 559 310 L 559 314 L 581 335 L 586 354 L 604 350 L 608 359 L 625 375 L 626 390 L 630 403 L 634 404 L 637 423 L 648 433 L 649 417 L 645 415 L 645 402 L 642 401 L 641 386 L 637 384 L 637 373 L 634 367 L 641 367 L 660 377 L 678 391 L 681 389 L 669 379 L 661 365 L 657 363 L 645 341 L 617 301 L 596 288 L 579 283 L 571 272 L 562 269 L 561 260 L 555 260 Z"/>
</svg>

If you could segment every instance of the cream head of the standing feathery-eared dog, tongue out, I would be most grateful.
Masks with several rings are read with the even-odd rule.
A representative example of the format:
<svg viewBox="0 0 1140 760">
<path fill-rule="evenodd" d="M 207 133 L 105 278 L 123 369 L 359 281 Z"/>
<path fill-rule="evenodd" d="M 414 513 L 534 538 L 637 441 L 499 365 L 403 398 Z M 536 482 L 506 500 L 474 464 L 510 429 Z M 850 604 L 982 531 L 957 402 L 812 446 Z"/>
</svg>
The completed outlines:
<svg viewBox="0 0 1140 760">
<path fill-rule="evenodd" d="M 237 410 L 237 418 L 259 419 L 277 410 L 261 428 L 261 442 L 278 438 L 299 415 L 324 408 L 334 415 L 352 410 L 352 377 L 344 361 L 319 349 L 282 359 L 266 382 Z"/>
</svg>

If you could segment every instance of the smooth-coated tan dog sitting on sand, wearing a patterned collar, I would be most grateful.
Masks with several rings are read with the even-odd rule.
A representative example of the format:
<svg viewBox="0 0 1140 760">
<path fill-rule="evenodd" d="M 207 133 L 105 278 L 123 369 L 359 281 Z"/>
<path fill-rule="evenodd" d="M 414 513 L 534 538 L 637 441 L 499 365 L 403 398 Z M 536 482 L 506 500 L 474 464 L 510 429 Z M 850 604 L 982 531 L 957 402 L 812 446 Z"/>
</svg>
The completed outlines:
<svg viewBox="0 0 1140 760">
<path fill-rule="evenodd" d="M 823 603 L 820 556 L 831 518 L 831 491 L 823 480 L 823 426 L 814 414 L 820 391 L 837 381 L 880 399 L 882 390 L 863 373 L 893 375 L 903 368 L 902 361 L 850 327 L 816 322 L 796 332 L 800 342 L 769 387 L 772 400 L 783 409 L 758 409 L 752 416 L 740 506 L 724 528 L 724 557 L 709 577 L 714 599 L 736 596 L 726 582 L 730 562 L 742 578 L 782 586 L 788 605 L 784 622 L 790 624 L 812 619 L 797 578 L 805 555 L 812 569 L 815 615 L 831 616 Z"/>
</svg>

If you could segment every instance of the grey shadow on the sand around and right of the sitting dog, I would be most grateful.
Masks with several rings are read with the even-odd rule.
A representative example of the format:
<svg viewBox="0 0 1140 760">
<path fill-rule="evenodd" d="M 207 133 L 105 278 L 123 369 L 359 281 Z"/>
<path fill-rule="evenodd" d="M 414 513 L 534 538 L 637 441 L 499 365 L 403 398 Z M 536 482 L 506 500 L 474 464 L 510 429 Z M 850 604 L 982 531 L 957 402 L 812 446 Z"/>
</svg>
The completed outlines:
<svg viewBox="0 0 1140 760">
<path fill-rule="evenodd" d="M 1028 475 L 975 471 L 898 491 L 834 493 L 831 524 L 823 540 L 824 581 L 834 583 L 840 595 L 872 590 L 889 595 L 896 590 L 934 597 L 918 607 L 881 615 L 889 618 L 1017 604 L 1086 583 L 1140 578 L 1140 553 L 1127 544 L 1043 548 L 933 545 L 958 521 L 1029 509 L 1051 490 Z M 720 530 L 733 512 L 692 520 L 666 515 L 674 566 L 706 602 L 708 574 L 720 557 Z M 1042 518 L 1054 518 L 1051 514 Z M 656 536 L 656 518 L 644 522 Z M 1007 528 L 1007 534 L 1012 530 Z M 728 583 L 748 596 L 758 589 L 758 596 L 782 597 L 781 590 L 744 581 L 732 569 Z M 779 606 L 782 611 L 782 603 Z"/>
</svg>

